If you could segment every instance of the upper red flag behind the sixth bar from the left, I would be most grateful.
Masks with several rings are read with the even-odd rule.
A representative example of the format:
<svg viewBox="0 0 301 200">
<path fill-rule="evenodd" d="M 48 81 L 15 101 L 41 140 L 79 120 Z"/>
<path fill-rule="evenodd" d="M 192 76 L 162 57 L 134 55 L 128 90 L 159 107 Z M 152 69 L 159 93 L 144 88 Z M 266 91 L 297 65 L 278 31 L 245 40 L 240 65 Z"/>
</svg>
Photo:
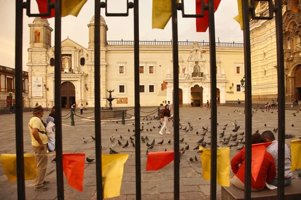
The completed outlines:
<svg viewBox="0 0 301 200">
<path fill-rule="evenodd" d="M 214 12 L 218 9 L 221 0 L 214 0 Z M 208 4 L 208 0 L 204 0 L 204 5 Z M 201 15 L 201 0 L 196 0 L 196 14 Z M 197 32 L 206 32 L 209 26 L 208 11 L 204 12 L 203 18 L 196 18 Z"/>
</svg>

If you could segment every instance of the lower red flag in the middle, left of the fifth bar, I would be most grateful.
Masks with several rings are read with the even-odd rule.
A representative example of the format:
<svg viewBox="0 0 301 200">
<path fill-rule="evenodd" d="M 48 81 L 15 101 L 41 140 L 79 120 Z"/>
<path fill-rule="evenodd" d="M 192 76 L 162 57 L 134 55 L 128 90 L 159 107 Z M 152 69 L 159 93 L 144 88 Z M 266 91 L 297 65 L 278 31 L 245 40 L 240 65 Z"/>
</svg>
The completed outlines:
<svg viewBox="0 0 301 200">
<path fill-rule="evenodd" d="M 174 160 L 174 151 L 149 152 L 146 161 L 146 171 L 158 170 Z"/>
</svg>

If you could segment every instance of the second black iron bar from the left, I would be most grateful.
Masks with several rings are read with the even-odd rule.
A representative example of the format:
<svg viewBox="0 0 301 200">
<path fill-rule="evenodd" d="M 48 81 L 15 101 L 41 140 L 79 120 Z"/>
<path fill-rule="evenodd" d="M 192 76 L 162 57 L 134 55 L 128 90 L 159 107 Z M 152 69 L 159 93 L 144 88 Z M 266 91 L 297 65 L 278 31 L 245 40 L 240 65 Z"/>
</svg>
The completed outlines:
<svg viewBox="0 0 301 200">
<path fill-rule="evenodd" d="M 63 139 L 62 139 L 62 100 L 61 100 L 61 30 L 62 30 L 62 1 L 55 2 L 55 28 L 54 28 L 54 84 L 55 84 L 55 126 L 56 126 L 56 169 L 57 169 L 57 195 L 64 199 L 63 175 Z"/>
</svg>

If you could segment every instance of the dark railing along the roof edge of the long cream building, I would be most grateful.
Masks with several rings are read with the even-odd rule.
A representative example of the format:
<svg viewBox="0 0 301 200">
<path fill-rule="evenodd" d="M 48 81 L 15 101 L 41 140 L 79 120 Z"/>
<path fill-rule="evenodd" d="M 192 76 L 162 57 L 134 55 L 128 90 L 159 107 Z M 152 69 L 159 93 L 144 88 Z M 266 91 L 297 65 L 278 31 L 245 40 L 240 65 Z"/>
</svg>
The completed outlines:
<svg viewBox="0 0 301 200">
<path fill-rule="evenodd" d="M 139 45 L 145 45 L 145 46 L 172 46 L 172 40 L 171 41 L 139 41 Z M 195 42 L 191 41 L 179 41 L 178 45 L 179 46 L 193 46 Z M 209 46 L 209 42 L 197 42 L 199 46 Z M 236 48 L 243 48 L 243 43 L 221 43 L 221 42 L 216 42 L 216 47 L 236 47 Z M 120 41 L 107 41 L 107 45 L 124 45 L 124 46 L 133 46 L 134 41 L 125 41 L 125 40 L 120 40 Z"/>
</svg>

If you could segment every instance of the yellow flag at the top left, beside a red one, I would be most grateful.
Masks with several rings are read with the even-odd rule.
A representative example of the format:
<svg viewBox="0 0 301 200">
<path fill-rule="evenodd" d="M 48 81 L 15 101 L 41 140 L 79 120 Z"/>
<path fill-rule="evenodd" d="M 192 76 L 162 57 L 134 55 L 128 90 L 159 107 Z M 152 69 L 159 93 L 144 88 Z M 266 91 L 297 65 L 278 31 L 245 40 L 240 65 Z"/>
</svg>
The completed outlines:
<svg viewBox="0 0 301 200">
<path fill-rule="evenodd" d="M 62 17 L 73 15 L 77 17 L 87 0 L 62 0 Z"/>
</svg>

